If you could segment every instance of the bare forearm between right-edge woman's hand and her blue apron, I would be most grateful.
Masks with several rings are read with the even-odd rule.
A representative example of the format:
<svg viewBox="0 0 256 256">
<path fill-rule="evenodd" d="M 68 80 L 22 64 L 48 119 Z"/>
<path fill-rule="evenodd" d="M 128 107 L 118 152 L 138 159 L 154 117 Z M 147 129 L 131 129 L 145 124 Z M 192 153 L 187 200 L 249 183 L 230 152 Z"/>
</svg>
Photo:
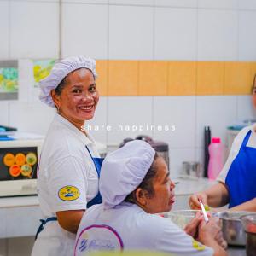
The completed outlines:
<svg viewBox="0 0 256 256">
<path fill-rule="evenodd" d="M 205 191 L 210 207 L 223 207 L 229 202 L 229 191 L 224 183 L 218 183 Z"/>
</svg>

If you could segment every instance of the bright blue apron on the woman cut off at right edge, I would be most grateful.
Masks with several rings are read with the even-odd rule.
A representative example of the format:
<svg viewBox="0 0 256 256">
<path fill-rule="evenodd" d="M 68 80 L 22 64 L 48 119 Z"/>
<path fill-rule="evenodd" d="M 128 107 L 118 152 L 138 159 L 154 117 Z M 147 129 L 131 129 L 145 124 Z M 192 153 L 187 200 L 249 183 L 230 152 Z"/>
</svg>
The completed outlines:
<svg viewBox="0 0 256 256">
<path fill-rule="evenodd" d="M 256 148 L 247 147 L 251 133 L 251 130 L 247 132 L 225 179 L 230 195 L 229 207 L 236 207 L 256 197 Z"/>
</svg>

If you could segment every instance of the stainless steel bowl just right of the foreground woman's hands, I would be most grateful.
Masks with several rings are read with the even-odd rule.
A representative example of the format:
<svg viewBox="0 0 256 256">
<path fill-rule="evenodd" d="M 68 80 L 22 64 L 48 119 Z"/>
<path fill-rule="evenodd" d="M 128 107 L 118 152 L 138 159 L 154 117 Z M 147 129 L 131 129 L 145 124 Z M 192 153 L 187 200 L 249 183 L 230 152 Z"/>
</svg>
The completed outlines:
<svg viewBox="0 0 256 256">
<path fill-rule="evenodd" d="M 248 214 L 248 212 L 214 213 L 215 216 L 222 220 L 223 236 L 229 245 L 246 245 L 246 233 L 241 223 L 241 216 L 246 214 Z"/>
</svg>

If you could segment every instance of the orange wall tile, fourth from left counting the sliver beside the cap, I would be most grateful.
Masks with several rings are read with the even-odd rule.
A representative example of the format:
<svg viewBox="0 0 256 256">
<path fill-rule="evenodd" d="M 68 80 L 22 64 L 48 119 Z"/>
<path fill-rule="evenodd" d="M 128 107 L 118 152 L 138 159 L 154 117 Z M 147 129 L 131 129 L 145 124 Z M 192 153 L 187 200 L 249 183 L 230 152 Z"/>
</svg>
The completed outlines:
<svg viewBox="0 0 256 256">
<path fill-rule="evenodd" d="M 196 62 L 169 61 L 168 95 L 195 95 Z"/>
</svg>

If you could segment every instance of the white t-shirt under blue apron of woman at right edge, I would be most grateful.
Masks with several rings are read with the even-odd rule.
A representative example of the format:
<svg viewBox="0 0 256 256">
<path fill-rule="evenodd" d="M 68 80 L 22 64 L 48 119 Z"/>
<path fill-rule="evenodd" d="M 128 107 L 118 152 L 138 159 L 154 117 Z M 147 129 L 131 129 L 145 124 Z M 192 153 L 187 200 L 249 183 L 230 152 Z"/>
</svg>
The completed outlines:
<svg viewBox="0 0 256 256">
<path fill-rule="evenodd" d="M 219 173 L 217 180 L 219 182 L 225 183 L 225 179 L 230 170 L 230 166 L 233 160 L 236 159 L 237 154 L 241 148 L 241 143 L 247 135 L 248 131 L 252 131 L 251 136 L 249 137 L 249 141 L 247 143 L 247 147 L 256 148 L 256 124 L 247 126 L 243 128 L 235 137 L 234 142 L 232 143 L 232 147 L 230 148 L 230 154 L 227 161 L 224 164 L 222 171 Z"/>
</svg>

